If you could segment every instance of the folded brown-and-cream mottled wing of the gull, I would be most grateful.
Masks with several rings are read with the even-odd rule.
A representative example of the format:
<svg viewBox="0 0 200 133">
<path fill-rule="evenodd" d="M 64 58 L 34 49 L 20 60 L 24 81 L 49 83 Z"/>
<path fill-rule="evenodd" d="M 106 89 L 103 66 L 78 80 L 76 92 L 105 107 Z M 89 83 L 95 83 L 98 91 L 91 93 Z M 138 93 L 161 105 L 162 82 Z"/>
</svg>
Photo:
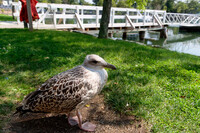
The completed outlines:
<svg viewBox="0 0 200 133">
<path fill-rule="evenodd" d="M 70 112 L 81 102 L 81 95 L 92 86 L 84 80 L 84 67 L 60 73 L 23 100 L 23 110 L 33 112 Z"/>
</svg>

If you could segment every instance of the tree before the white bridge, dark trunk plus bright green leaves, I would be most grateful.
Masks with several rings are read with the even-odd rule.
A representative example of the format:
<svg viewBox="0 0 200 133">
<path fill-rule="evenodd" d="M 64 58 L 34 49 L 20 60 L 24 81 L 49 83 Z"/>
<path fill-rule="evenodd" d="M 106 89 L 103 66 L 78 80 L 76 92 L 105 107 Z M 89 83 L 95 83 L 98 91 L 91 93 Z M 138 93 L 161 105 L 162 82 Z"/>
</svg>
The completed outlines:
<svg viewBox="0 0 200 133">
<path fill-rule="evenodd" d="M 112 0 L 117 1 L 117 0 Z M 103 13 L 100 23 L 99 38 L 107 38 L 108 34 L 108 24 L 110 20 L 110 10 L 112 5 L 111 0 L 104 0 L 103 2 Z M 132 6 L 135 2 L 137 3 L 137 8 L 145 9 L 147 5 L 147 0 L 126 0 L 129 6 Z"/>
</svg>

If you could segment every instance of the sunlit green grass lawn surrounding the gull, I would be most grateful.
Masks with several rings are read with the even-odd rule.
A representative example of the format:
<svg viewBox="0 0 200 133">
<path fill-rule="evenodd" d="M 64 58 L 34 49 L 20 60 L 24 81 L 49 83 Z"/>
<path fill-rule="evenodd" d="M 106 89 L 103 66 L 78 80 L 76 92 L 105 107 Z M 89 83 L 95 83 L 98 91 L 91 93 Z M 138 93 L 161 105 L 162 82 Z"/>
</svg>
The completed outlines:
<svg viewBox="0 0 200 133">
<path fill-rule="evenodd" d="M 152 132 L 200 132 L 200 58 L 125 41 L 64 31 L 0 29 L 1 128 L 25 95 L 51 76 L 98 54 L 108 70 L 103 94 Z"/>
</svg>

